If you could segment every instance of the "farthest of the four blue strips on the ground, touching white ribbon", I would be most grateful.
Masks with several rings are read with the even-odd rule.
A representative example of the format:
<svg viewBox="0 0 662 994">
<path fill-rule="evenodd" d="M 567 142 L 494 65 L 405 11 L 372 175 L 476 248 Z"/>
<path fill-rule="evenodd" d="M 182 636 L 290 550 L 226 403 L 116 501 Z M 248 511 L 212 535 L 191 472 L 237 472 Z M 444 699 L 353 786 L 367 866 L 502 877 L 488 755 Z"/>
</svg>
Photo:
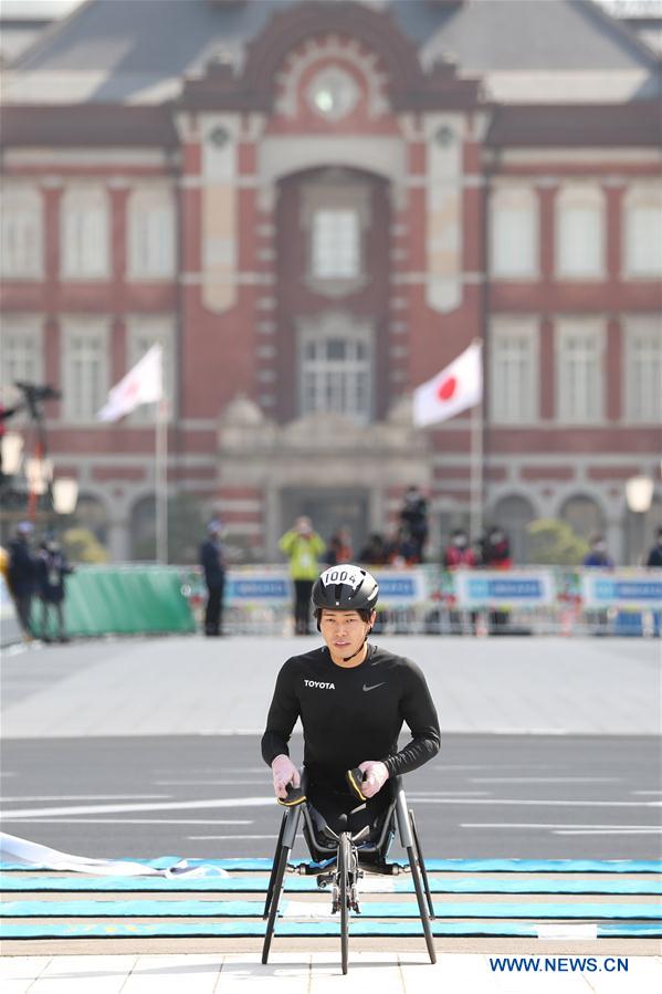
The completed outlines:
<svg viewBox="0 0 662 994">
<path fill-rule="evenodd" d="M 275 835 L 274 835 L 275 846 Z M 169 869 L 181 861 L 179 856 L 161 856 L 158 859 L 136 859 L 122 857 L 130 862 L 139 862 L 154 869 Z M 399 866 L 407 866 L 404 859 L 393 859 Z M 298 866 L 308 860 L 291 860 Z M 224 870 L 262 871 L 271 870 L 271 859 L 188 859 L 189 866 L 221 867 Z M 662 859 L 425 859 L 431 872 L 445 873 L 662 873 Z M 49 870 L 52 867 L 25 867 L 20 864 L 0 862 L 0 871 Z"/>
</svg>

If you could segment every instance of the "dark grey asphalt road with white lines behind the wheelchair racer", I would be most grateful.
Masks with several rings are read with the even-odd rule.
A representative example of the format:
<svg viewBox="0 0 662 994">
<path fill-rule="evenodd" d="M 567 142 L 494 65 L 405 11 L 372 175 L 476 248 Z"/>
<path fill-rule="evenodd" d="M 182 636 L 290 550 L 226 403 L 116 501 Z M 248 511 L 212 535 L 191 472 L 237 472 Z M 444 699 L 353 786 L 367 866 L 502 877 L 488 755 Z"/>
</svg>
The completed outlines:
<svg viewBox="0 0 662 994">
<path fill-rule="evenodd" d="M 259 746 L 255 735 L 8 740 L 2 827 L 88 857 L 271 856 L 282 809 Z M 301 739 L 292 752 L 301 758 Z M 430 857 L 652 859 L 661 784 L 654 736 L 448 734 L 406 789 Z"/>
</svg>

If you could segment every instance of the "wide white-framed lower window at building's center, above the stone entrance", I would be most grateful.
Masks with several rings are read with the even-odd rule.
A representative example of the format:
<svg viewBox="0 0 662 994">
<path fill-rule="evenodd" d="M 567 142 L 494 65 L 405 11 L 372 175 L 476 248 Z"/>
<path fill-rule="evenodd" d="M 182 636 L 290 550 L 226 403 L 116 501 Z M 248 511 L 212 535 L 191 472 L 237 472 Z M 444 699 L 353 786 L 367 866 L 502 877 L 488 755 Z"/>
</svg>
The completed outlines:
<svg viewBox="0 0 662 994">
<path fill-rule="evenodd" d="M 364 358 L 311 357 L 308 346 L 341 341 L 349 350 L 361 345 Z M 369 323 L 349 315 L 327 315 L 321 322 L 302 323 L 298 333 L 298 409 L 303 417 L 321 411 L 337 414 L 367 425 L 374 412 L 374 334 Z M 361 385 L 362 379 L 362 385 Z M 361 404 L 361 398 L 364 402 Z M 348 401 L 343 404 L 343 399 Z"/>
</svg>

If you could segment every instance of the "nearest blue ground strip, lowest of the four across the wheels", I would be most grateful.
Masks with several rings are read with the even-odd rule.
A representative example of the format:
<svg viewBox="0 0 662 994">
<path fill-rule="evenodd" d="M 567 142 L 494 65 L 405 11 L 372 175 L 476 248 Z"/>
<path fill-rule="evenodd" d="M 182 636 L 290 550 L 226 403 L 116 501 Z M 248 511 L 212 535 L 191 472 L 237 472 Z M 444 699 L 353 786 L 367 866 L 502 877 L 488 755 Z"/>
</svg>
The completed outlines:
<svg viewBox="0 0 662 994">
<path fill-rule="evenodd" d="M 536 939 L 538 931 L 535 924 L 525 922 L 452 922 L 433 921 L 430 923 L 432 934 L 445 935 L 497 935 L 526 937 Z M 1 934 L 4 939 L 136 939 L 136 938 L 238 938 L 264 935 L 266 923 L 255 921 L 196 921 L 196 922 L 62 922 L 53 921 L 44 924 L 3 923 Z M 351 935 L 407 937 L 420 935 L 422 927 L 418 921 L 362 921 L 351 919 Z M 294 922 L 279 921 L 275 930 L 277 937 L 323 937 L 339 935 L 340 928 L 335 922 Z M 662 937 L 660 924 L 634 924 L 627 922 L 598 924 L 599 939 L 655 939 Z"/>
</svg>

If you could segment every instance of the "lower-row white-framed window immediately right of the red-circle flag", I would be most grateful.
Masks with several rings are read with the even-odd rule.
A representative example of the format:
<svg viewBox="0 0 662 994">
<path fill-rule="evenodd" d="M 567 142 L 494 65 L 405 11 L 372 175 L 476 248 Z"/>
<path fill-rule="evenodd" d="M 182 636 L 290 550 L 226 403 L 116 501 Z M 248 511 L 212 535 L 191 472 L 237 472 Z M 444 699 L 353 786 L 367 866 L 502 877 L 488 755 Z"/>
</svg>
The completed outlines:
<svg viewBox="0 0 662 994">
<path fill-rule="evenodd" d="M 539 328 L 534 316 L 498 316 L 490 332 L 490 416 L 496 425 L 530 425 L 539 420 Z M 516 348 L 523 345 L 524 368 L 517 370 Z M 511 349 L 513 355 L 504 356 Z M 505 366 L 505 368 L 504 368 Z"/>
</svg>

